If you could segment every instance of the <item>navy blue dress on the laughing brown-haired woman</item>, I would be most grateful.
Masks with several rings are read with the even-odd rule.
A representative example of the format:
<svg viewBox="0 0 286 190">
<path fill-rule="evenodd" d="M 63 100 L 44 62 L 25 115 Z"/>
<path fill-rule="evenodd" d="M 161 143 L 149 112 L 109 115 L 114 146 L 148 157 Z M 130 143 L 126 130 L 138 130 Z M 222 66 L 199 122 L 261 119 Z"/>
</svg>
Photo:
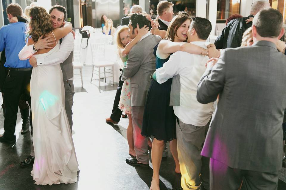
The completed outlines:
<svg viewBox="0 0 286 190">
<path fill-rule="evenodd" d="M 154 55 L 158 45 L 154 47 Z M 163 66 L 169 60 L 160 59 L 156 56 L 156 69 Z M 145 137 L 154 136 L 164 142 L 176 139 L 176 116 L 173 106 L 170 106 L 172 78 L 165 83 L 159 84 L 156 80 L 151 81 L 144 109 L 141 134 Z"/>
</svg>

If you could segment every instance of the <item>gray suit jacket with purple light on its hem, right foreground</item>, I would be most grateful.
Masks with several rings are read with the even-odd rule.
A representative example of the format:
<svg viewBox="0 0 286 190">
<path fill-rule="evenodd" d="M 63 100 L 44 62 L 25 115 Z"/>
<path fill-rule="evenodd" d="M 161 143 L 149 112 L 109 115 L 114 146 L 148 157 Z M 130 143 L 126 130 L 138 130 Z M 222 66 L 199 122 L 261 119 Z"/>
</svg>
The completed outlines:
<svg viewBox="0 0 286 190">
<path fill-rule="evenodd" d="M 200 103 L 220 95 L 202 155 L 231 168 L 274 172 L 282 167 L 286 56 L 259 41 L 228 48 L 198 84 Z"/>
</svg>

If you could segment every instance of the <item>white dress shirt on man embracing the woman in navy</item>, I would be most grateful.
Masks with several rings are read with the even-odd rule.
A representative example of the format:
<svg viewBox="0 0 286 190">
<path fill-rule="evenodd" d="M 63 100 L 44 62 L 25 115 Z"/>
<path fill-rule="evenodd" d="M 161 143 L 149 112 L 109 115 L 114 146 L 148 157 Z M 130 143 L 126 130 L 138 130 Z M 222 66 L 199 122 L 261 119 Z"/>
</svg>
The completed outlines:
<svg viewBox="0 0 286 190">
<path fill-rule="evenodd" d="M 191 42 L 206 48 L 205 42 Z M 180 75 L 180 106 L 173 106 L 175 115 L 185 124 L 205 126 L 214 112 L 213 102 L 200 104 L 197 101 L 197 86 L 206 70 L 208 57 L 177 51 L 164 66 L 156 70 L 158 83 L 164 83 L 175 75 Z"/>
</svg>

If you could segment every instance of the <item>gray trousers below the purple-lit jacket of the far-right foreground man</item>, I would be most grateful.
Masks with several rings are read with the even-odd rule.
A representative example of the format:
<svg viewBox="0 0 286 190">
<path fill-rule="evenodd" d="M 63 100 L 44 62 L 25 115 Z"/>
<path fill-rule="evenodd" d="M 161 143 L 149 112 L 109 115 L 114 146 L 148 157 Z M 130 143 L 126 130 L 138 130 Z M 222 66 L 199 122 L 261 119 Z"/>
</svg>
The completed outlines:
<svg viewBox="0 0 286 190">
<path fill-rule="evenodd" d="M 215 159 L 210 159 L 210 190 L 238 189 L 243 181 L 243 190 L 277 190 L 278 171 L 257 172 L 234 169 Z"/>
</svg>

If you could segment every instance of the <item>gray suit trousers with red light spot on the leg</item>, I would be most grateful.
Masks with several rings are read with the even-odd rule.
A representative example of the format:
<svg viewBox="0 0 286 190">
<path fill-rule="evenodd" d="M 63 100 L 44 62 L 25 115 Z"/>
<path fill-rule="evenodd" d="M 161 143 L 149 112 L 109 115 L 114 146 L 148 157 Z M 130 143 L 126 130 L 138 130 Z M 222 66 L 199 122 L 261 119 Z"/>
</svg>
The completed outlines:
<svg viewBox="0 0 286 190">
<path fill-rule="evenodd" d="M 147 144 L 148 138 L 141 135 L 143 115 L 144 107 L 131 107 L 133 140 L 136 159 L 143 164 L 149 164 Z"/>
</svg>

